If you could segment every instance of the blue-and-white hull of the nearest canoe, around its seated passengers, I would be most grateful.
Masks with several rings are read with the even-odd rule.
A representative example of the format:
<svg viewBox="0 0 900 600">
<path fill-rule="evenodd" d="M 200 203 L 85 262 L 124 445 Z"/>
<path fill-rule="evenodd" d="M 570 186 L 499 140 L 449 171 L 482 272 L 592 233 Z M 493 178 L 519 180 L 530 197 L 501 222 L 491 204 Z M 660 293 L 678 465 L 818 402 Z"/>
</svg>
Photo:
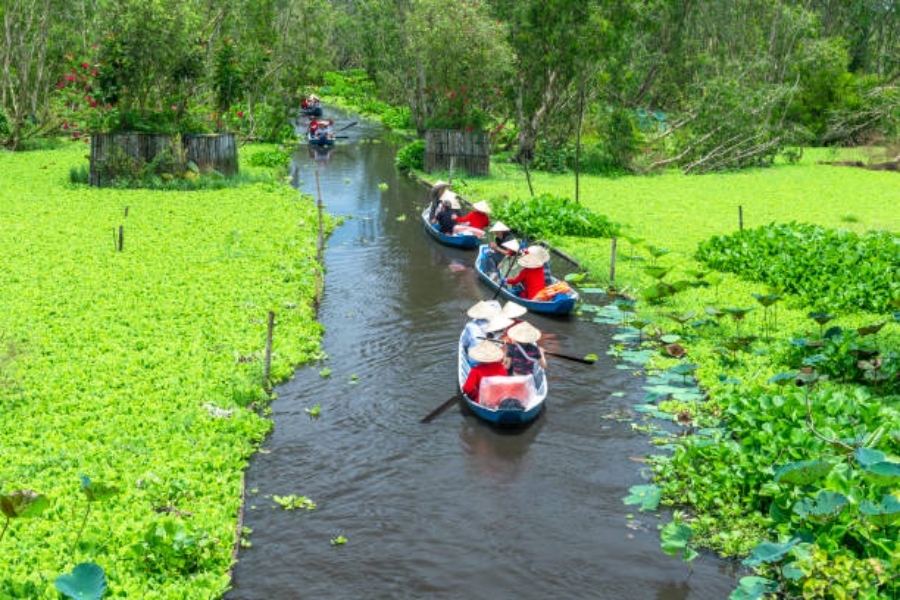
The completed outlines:
<svg viewBox="0 0 900 600">
<path fill-rule="evenodd" d="M 458 377 L 459 389 L 462 390 L 472 365 L 466 356 L 462 345 L 463 336 L 459 337 L 458 351 Z M 515 427 L 525 425 L 533 421 L 544 408 L 544 400 L 547 399 L 547 376 L 544 370 L 535 365 L 533 375 L 511 375 L 485 377 L 481 380 L 481 403 L 473 401 L 465 392 L 461 392 L 466 405 L 480 419 L 501 427 Z M 515 398 L 520 406 L 501 408 L 499 404 L 509 398 Z"/>
</svg>

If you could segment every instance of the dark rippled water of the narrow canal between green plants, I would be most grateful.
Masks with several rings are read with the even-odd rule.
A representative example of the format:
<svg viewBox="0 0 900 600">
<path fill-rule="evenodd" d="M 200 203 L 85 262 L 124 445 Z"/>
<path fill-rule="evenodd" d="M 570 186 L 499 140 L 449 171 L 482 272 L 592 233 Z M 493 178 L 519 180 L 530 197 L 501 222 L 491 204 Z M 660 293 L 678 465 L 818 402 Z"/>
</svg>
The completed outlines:
<svg viewBox="0 0 900 600">
<path fill-rule="evenodd" d="M 727 598 L 729 565 L 704 556 L 691 573 L 660 550 L 660 521 L 622 502 L 652 448 L 615 418 L 644 392 L 606 356 L 608 327 L 527 316 L 548 349 L 600 357 L 549 358 L 546 409 L 527 429 L 499 432 L 462 408 L 419 422 L 456 393 L 465 312 L 492 294 L 474 251 L 425 235 L 427 191 L 396 171 L 380 130 L 344 133 L 329 156 L 295 156 L 295 184 L 316 194 L 318 171 L 326 209 L 346 217 L 325 253 L 328 359 L 277 390 L 247 473 L 252 547 L 226 598 Z M 273 500 L 291 494 L 316 508 Z"/>
</svg>

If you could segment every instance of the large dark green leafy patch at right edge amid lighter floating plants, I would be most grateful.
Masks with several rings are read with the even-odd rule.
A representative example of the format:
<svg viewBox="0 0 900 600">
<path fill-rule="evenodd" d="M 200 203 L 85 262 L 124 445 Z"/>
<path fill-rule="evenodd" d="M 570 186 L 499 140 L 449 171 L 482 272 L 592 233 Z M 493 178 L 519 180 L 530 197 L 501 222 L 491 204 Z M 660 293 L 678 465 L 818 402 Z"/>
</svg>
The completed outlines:
<svg viewBox="0 0 900 600">
<path fill-rule="evenodd" d="M 696 257 L 828 309 L 886 312 L 900 299 L 900 243 L 887 231 L 857 235 L 817 225 L 771 224 L 701 243 Z"/>
</svg>

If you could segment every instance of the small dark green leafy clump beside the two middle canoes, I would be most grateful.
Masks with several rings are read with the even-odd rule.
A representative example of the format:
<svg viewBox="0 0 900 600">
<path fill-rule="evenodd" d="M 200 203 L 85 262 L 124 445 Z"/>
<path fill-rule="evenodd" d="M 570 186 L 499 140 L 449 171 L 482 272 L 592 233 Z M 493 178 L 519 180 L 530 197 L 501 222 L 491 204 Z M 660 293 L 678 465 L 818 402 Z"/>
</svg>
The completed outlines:
<svg viewBox="0 0 900 600">
<path fill-rule="evenodd" d="M 610 238 L 619 230 L 619 226 L 605 216 L 568 198 L 551 194 L 504 202 L 494 207 L 494 213 L 496 219 L 532 239 L 551 235 Z"/>
</svg>

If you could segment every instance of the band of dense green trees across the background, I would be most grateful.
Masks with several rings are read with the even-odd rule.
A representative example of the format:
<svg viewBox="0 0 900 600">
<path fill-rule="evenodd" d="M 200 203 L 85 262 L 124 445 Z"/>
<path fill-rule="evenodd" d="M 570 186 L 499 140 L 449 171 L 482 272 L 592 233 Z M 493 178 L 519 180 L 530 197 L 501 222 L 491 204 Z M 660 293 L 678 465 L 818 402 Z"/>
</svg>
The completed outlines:
<svg viewBox="0 0 900 600">
<path fill-rule="evenodd" d="M 141 128 L 277 139 L 348 69 L 419 131 L 508 127 L 538 166 L 565 168 L 576 139 L 611 170 L 701 173 L 900 130 L 896 0 L 14 0 L 0 19 L 12 149 Z"/>
</svg>

